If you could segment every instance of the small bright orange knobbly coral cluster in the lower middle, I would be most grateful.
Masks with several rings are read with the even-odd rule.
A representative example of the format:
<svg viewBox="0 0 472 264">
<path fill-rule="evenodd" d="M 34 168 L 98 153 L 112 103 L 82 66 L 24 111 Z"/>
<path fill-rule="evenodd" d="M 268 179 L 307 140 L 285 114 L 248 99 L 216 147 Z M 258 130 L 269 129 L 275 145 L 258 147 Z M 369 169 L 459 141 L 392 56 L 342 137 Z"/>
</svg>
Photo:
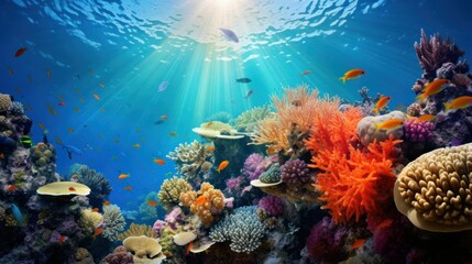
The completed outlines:
<svg viewBox="0 0 472 264">
<path fill-rule="evenodd" d="M 197 215 L 205 226 L 210 226 L 215 217 L 224 209 L 224 195 L 209 183 L 202 183 L 198 193 L 191 190 L 180 194 L 180 201 L 185 207 L 190 207 L 190 211 Z"/>
</svg>

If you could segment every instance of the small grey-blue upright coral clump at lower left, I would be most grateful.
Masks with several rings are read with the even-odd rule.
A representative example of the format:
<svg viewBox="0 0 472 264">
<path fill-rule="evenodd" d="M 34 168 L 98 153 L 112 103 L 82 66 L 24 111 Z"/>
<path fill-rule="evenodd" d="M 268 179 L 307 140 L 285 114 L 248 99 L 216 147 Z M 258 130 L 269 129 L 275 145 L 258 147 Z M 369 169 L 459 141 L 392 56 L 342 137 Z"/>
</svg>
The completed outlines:
<svg viewBox="0 0 472 264">
<path fill-rule="evenodd" d="M 109 241 L 118 240 L 118 234 L 122 232 L 124 226 L 127 226 L 120 208 L 114 205 L 103 207 L 103 222 L 105 228 L 102 234 Z"/>
</svg>

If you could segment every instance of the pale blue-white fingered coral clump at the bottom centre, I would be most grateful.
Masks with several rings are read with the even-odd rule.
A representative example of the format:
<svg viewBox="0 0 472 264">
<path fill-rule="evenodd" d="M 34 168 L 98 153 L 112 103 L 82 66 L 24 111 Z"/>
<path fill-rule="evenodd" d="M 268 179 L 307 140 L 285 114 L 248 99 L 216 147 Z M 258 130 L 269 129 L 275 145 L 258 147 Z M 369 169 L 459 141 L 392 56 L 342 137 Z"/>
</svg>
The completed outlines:
<svg viewBox="0 0 472 264">
<path fill-rule="evenodd" d="M 215 242 L 230 242 L 234 252 L 252 252 L 262 244 L 264 224 L 256 215 L 255 207 L 240 207 L 233 213 L 212 227 L 210 239 Z"/>
</svg>

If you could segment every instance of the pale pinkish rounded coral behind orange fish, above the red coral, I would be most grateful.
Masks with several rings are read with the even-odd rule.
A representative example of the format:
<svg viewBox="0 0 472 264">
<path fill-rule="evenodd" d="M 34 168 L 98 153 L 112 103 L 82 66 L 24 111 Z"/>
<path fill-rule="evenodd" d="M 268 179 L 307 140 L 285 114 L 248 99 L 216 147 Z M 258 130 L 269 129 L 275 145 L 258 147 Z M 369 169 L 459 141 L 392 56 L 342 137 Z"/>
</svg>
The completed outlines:
<svg viewBox="0 0 472 264">
<path fill-rule="evenodd" d="M 391 134 L 393 134 L 394 140 L 398 140 L 403 136 L 403 130 L 378 130 L 375 131 L 375 123 L 382 123 L 389 119 L 402 119 L 406 121 L 405 113 L 400 111 L 392 111 L 387 114 L 377 116 L 377 117 L 365 117 L 358 123 L 358 135 L 361 140 L 361 143 L 366 146 L 374 140 L 385 141 Z"/>
</svg>

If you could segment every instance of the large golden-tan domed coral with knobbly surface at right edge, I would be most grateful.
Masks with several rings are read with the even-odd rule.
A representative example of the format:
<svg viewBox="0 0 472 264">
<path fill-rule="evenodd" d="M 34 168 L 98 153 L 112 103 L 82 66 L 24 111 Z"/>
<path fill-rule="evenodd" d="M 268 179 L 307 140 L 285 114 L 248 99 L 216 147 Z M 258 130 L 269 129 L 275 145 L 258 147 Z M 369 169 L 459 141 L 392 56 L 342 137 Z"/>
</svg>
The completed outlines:
<svg viewBox="0 0 472 264">
<path fill-rule="evenodd" d="M 418 228 L 472 229 L 472 143 L 422 154 L 398 175 L 397 209 Z"/>
</svg>

